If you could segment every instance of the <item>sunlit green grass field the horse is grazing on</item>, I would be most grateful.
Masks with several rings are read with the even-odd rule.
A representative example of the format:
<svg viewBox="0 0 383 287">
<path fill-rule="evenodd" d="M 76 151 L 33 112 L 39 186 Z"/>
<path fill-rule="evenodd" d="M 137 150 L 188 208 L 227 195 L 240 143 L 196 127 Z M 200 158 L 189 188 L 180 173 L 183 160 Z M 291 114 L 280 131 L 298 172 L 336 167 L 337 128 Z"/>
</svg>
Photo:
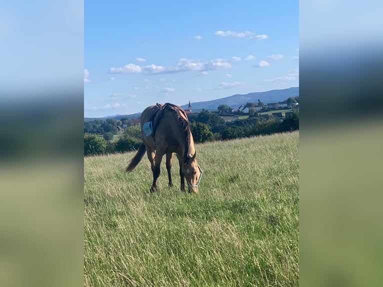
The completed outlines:
<svg viewBox="0 0 383 287">
<path fill-rule="evenodd" d="M 84 286 L 297 286 L 298 136 L 196 145 L 199 193 L 146 157 L 84 158 Z"/>
</svg>

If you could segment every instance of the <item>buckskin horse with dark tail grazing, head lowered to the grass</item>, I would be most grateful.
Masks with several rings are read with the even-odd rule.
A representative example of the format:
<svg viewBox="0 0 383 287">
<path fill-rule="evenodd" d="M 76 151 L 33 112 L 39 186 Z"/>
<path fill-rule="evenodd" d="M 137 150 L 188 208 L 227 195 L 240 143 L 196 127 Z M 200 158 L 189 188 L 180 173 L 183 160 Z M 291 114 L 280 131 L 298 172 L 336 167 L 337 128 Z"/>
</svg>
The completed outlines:
<svg viewBox="0 0 383 287">
<path fill-rule="evenodd" d="M 137 153 L 129 161 L 126 171 L 130 172 L 147 154 L 153 172 L 153 183 L 150 192 L 157 190 L 157 178 L 160 173 L 162 156 L 166 154 L 166 169 L 168 186 L 172 187 L 171 181 L 171 158 L 176 153 L 179 162 L 179 176 L 181 178 L 181 190 L 185 190 L 186 178 L 188 191 L 198 192 L 202 169 L 199 167 L 195 155 L 193 136 L 190 131 L 185 111 L 178 105 L 165 103 L 146 107 L 141 113 L 141 138 L 143 143 Z M 144 132 L 145 123 L 151 122 L 151 134 Z M 149 135 L 147 135 L 149 134 Z"/>
</svg>

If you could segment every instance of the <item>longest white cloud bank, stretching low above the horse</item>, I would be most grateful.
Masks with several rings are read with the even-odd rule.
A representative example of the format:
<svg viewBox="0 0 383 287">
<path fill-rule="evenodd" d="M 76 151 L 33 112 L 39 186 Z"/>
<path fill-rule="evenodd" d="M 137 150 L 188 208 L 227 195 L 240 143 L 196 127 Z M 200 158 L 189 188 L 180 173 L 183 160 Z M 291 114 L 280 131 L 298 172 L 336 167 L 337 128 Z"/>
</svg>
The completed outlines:
<svg viewBox="0 0 383 287">
<path fill-rule="evenodd" d="M 143 72 L 147 74 L 164 74 L 164 73 L 175 73 L 182 71 L 206 71 L 214 69 L 227 69 L 230 68 L 231 64 L 221 58 L 209 60 L 209 61 L 194 61 L 187 58 L 180 58 L 175 65 L 172 66 L 161 66 L 161 65 L 146 65 L 139 66 L 136 64 L 127 64 L 123 67 L 111 67 L 109 73 L 127 73 L 127 72 Z"/>
</svg>

